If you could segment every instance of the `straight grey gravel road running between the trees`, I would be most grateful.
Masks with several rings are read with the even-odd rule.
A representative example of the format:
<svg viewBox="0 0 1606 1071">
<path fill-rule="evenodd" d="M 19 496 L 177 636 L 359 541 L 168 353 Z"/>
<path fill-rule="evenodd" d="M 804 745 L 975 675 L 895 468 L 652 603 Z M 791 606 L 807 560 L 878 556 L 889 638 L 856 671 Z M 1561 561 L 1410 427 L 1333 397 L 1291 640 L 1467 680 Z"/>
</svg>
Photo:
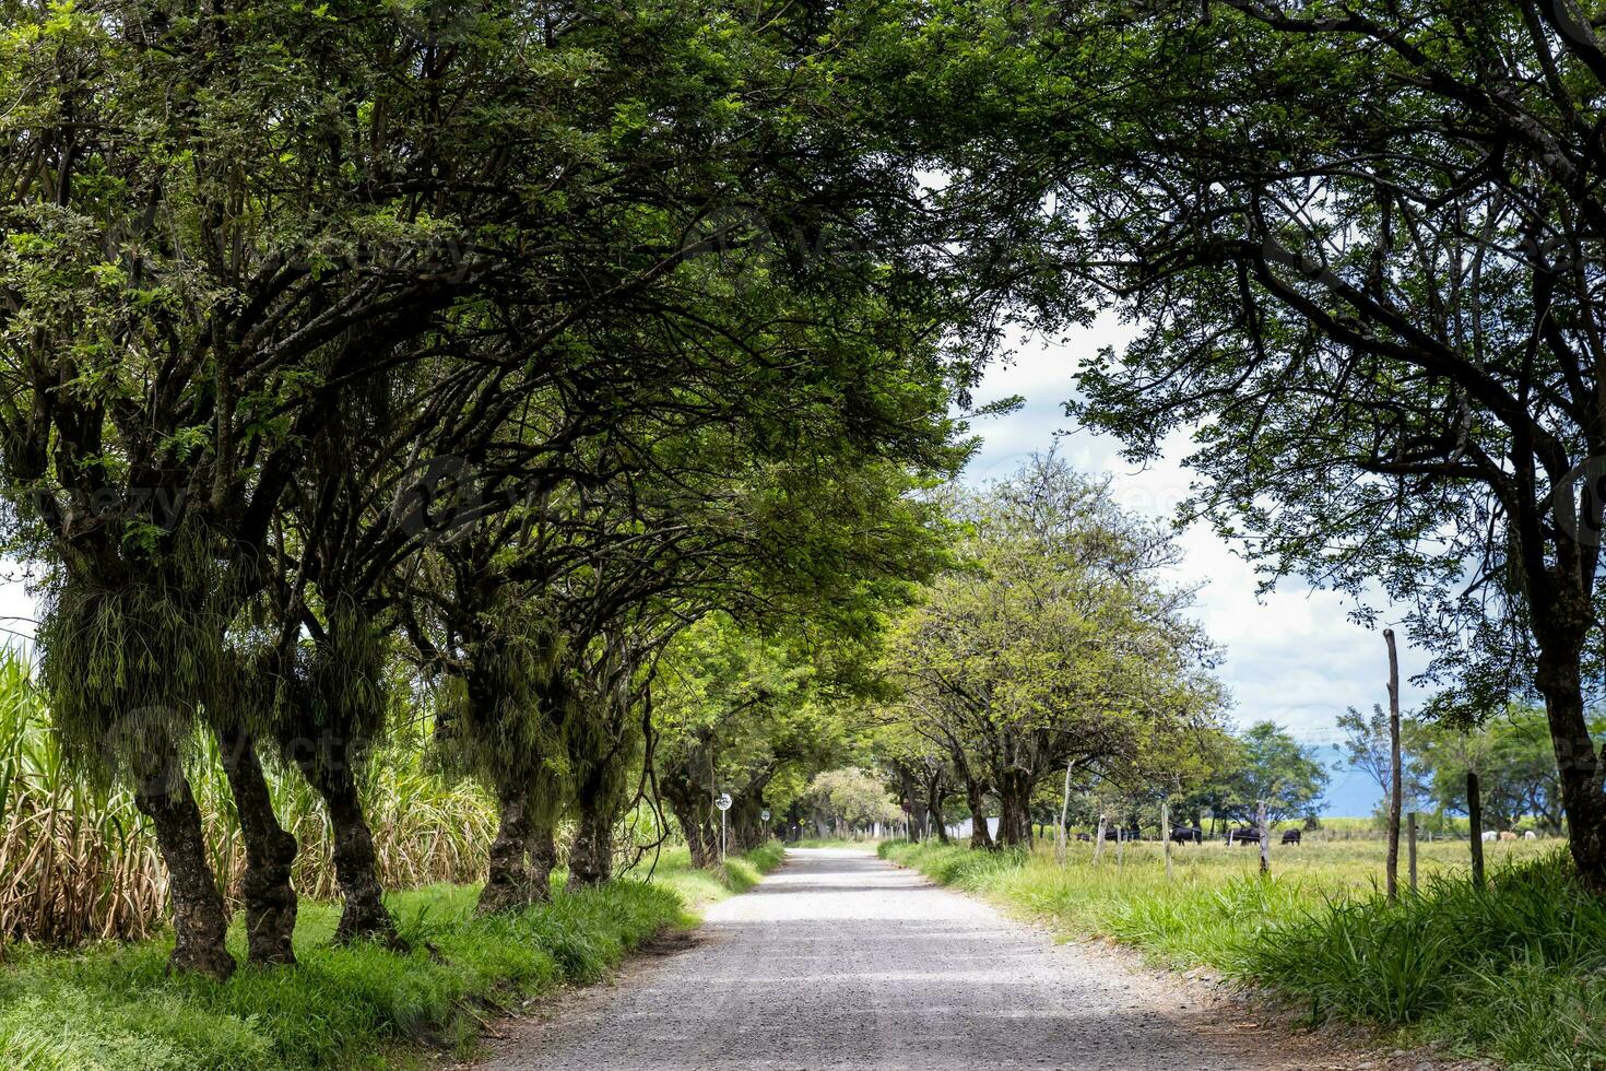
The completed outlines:
<svg viewBox="0 0 1606 1071">
<path fill-rule="evenodd" d="M 487 1071 L 1267 1071 L 1290 1053 L 1185 991 L 862 851 L 795 849 L 618 986 L 504 1028 Z M 1241 1015 L 1238 1015 L 1241 1018 Z"/>
</svg>

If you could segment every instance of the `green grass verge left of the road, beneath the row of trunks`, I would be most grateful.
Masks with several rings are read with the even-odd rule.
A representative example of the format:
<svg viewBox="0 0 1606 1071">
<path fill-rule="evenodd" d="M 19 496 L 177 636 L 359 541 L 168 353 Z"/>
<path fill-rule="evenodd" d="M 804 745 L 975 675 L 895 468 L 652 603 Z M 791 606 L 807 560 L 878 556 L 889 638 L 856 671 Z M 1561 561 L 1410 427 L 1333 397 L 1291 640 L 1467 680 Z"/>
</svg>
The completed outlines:
<svg viewBox="0 0 1606 1071">
<path fill-rule="evenodd" d="M 0 1066 L 18 1071 L 302 1071 L 406 1068 L 472 1049 L 485 1016 L 562 984 L 588 984 L 687 907 L 750 886 L 766 846 L 724 873 L 660 861 L 654 882 L 557 893 L 552 904 L 474 915 L 477 886 L 395 893 L 410 955 L 331 947 L 331 904 L 304 902 L 300 965 L 223 983 L 164 970 L 170 938 L 77 952 L 14 951 L 0 968 Z M 676 865 L 679 864 L 679 865 Z M 234 954 L 244 941 L 231 935 Z"/>
</svg>

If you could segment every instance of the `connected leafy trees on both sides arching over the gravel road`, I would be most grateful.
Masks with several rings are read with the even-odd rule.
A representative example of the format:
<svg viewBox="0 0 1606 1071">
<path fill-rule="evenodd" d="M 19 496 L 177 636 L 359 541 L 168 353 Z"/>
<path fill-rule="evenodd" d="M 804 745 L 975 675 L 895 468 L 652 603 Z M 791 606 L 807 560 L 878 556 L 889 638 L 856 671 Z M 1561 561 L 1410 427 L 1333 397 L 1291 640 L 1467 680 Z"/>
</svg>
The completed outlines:
<svg viewBox="0 0 1606 1071">
<path fill-rule="evenodd" d="M 713 864 L 723 793 L 737 848 L 887 788 L 1004 846 L 1111 785 L 1309 812 L 1176 533 L 1054 454 L 957 478 L 1012 336 L 1111 310 L 1070 419 L 1404 613 L 1444 732 L 1542 703 L 1469 739 L 1606 888 L 1596 8 L 0 0 L 5 551 L 172 967 L 236 906 L 294 963 L 286 785 L 336 941 L 405 951 L 397 748 L 491 801 L 487 914 Z"/>
</svg>

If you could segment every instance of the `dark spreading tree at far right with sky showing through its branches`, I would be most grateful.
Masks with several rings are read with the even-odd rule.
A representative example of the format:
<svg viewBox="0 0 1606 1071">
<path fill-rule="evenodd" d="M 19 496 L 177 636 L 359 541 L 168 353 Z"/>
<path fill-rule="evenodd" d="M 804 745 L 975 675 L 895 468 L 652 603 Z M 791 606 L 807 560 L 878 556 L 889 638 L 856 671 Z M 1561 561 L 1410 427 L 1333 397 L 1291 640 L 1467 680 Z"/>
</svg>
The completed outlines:
<svg viewBox="0 0 1606 1071">
<path fill-rule="evenodd" d="M 1606 885 L 1595 5 L 983 5 L 927 26 L 964 40 L 920 55 L 944 59 L 928 92 L 976 100 L 949 111 L 976 247 L 1034 313 L 1111 303 L 1139 326 L 1079 368 L 1073 414 L 1139 459 L 1192 435 L 1195 512 L 1269 580 L 1404 604 L 1429 674 L 1458 682 L 1445 713 L 1543 697 L 1572 856 Z"/>
</svg>

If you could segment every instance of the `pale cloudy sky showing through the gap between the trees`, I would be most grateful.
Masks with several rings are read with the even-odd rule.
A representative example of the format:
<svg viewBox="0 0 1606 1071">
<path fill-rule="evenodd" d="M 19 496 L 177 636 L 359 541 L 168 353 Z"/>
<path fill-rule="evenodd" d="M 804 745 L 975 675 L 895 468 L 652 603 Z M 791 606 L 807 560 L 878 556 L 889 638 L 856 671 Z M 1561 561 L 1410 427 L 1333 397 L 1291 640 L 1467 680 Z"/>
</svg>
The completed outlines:
<svg viewBox="0 0 1606 1071">
<path fill-rule="evenodd" d="M 1188 493 L 1180 459 L 1185 442 L 1163 462 L 1137 469 L 1119 456 L 1118 443 L 1073 427 L 1062 408 L 1071 392 L 1070 373 L 1100 345 L 1119 344 L 1116 324 L 1102 323 L 1065 342 L 1023 342 L 1012 363 L 988 373 L 976 401 L 1021 395 L 1026 405 L 1004 417 L 981 421 L 975 430 L 983 448 L 965 472 L 970 482 L 1009 475 L 1025 456 L 1058 443 L 1062 456 L 1084 472 L 1108 472 L 1113 491 L 1127 509 L 1169 517 Z M 1381 631 L 1352 625 L 1349 602 L 1331 591 L 1312 591 L 1285 581 L 1256 597 L 1254 572 L 1233 548 L 1203 527 L 1184 535 L 1182 575 L 1203 584 L 1196 615 L 1227 650 L 1221 676 L 1233 697 L 1233 721 L 1248 726 L 1270 718 L 1301 742 L 1319 747 L 1325 764 L 1336 761 L 1336 719 L 1346 707 L 1386 703 L 1388 654 Z M 1389 617 L 1388 613 L 1384 617 Z M 1402 676 L 1420 671 L 1426 658 L 1400 650 Z M 1405 682 L 1408 708 L 1421 694 Z M 1381 798 L 1363 774 L 1335 772 L 1328 814 L 1368 814 Z"/>
</svg>

